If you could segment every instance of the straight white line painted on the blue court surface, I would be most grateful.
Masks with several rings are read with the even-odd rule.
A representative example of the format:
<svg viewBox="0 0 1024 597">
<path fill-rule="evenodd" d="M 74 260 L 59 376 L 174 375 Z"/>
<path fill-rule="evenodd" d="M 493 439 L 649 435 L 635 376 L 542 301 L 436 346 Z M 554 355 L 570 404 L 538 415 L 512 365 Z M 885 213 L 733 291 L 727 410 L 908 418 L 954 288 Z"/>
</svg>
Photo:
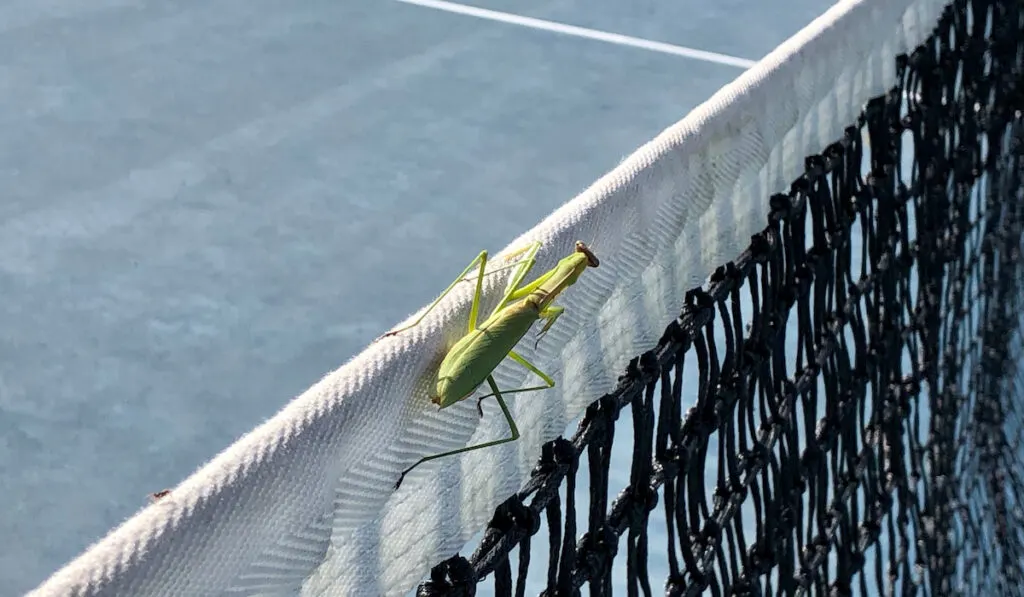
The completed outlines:
<svg viewBox="0 0 1024 597">
<path fill-rule="evenodd" d="M 665 54 L 675 54 L 677 56 L 684 56 L 696 60 L 705 60 L 706 62 L 716 62 L 719 65 L 726 65 L 729 67 L 738 67 L 740 69 L 749 69 L 757 63 L 757 60 L 737 58 L 736 56 L 719 54 L 717 52 L 706 52 L 703 50 L 685 48 L 683 46 L 676 46 L 657 41 L 650 41 L 638 37 L 630 37 L 628 35 L 620 35 L 617 33 L 607 33 L 604 31 L 597 31 L 594 29 L 584 29 L 582 27 L 574 27 L 572 25 L 562 25 L 561 23 L 554 23 L 551 20 L 542 20 L 540 18 L 532 18 L 530 16 L 519 16 L 518 14 L 511 14 L 509 12 L 499 12 L 497 10 L 488 10 L 486 8 L 477 8 L 475 6 L 467 6 L 465 4 L 456 4 L 455 2 L 445 2 L 444 0 L 397 0 L 397 1 L 403 2 L 406 4 L 415 4 L 417 6 L 425 6 L 427 8 L 444 10 L 445 12 L 455 12 L 457 14 L 465 14 L 467 16 L 475 16 L 477 18 L 485 18 L 487 20 L 508 23 L 510 25 L 518 25 L 520 27 L 528 27 L 530 29 L 540 29 L 544 31 L 550 31 L 553 33 L 560 33 L 563 35 L 585 37 L 587 39 L 594 39 L 607 43 L 617 44 L 621 46 L 631 46 L 634 48 L 642 48 L 645 50 L 662 52 Z"/>
</svg>

